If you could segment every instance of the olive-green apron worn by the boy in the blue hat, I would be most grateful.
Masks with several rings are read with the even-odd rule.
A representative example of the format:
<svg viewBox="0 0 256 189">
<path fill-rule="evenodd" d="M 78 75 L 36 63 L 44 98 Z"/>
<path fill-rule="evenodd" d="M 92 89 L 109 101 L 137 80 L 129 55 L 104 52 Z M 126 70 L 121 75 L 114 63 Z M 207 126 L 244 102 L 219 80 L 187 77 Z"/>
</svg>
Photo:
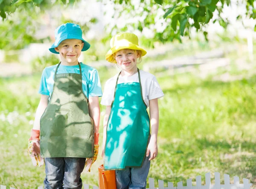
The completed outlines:
<svg viewBox="0 0 256 189">
<path fill-rule="evenodd" d="M 43 158 L 93 157 L 93 120 L 82 91 L 82 74 L 56 74 L 48 106 L 40 120 Z"/>
</svg>

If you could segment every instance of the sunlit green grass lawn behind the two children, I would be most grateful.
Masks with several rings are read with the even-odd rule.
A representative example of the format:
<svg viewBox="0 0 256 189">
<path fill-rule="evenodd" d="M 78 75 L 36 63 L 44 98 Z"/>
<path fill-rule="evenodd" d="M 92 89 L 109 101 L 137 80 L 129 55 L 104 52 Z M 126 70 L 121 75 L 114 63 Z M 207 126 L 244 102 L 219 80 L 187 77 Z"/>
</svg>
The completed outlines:
<svg viewBox="0 0 256 189">
<path fill-rule="evenodd" d="M 102 84 L 115 74 L 99 69 Z M 44 167 L 33 167 L 27 140 L 40 95 L 40 74 L 0 79 L 0 184 L 19 189 L 43 185 Z M 249 178 L 256 184 L 256 76 L 232 82 L 201 80 L 192 74 L 158 79 L 165 96 L 159 100 L 159 154 L 148 177 L 174 182 L 211 172 Z M 102 117 L 105 107 L 101 106 Z M 6 120 L 5 120 L 6 119 Z M 102 132 L 102 124 L 100 125 Z M 102 135 L 100 136 L 100 143 Z M 101 152 L 101 148 L 100 148 Z M 97 185 L 99 155 L 84 183 Z M 195 184 L 195 183 L 194 183 Z"/>
</svg>

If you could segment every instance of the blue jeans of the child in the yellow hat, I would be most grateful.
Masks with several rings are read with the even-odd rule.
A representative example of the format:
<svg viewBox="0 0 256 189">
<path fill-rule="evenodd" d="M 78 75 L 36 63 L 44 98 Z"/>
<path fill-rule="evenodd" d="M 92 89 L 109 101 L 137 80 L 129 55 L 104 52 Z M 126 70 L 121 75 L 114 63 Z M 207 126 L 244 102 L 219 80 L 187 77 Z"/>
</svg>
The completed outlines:
<svg viewBox="0 0 256 189">
<path fill-rule="evenodd" d="M 116 170 L 117 189 L 145 189 L 150 168 L 150 154 L 145 156 L 141 168 L 125 168 Z"/>
</svg>

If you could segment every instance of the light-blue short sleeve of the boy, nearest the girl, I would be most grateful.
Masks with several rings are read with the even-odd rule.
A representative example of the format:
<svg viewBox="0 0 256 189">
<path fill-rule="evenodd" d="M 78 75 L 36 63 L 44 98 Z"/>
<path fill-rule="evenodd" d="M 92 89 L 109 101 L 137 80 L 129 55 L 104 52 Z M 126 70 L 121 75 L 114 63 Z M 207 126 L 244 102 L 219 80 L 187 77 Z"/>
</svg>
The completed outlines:
<svg viewBox="0 0 256 189">
<path fill-rule="evenodd" d="M 102 96 L 102 89 L 101 89 L 101 84 L 99 80 L 99 74 L 97 70 L 95 70 L 89 81 L 89 97 L 101 97 Z"/>
</svg>

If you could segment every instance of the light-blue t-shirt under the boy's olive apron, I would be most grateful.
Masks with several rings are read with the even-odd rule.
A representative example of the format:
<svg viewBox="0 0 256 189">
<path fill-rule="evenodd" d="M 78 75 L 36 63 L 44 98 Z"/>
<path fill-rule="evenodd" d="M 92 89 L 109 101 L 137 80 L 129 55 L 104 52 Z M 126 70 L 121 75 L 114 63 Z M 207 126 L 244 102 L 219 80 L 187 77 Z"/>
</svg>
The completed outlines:
<svg viewBox="0 0 256 189">
<path fill-rule="evenodd" d="M 98 72 L 95 68 L 81 64 L 82 71 L 82 89 L 85 96 L 88 97 L 101 97 L 102 89 L 99 80 Z M 54 74 L 58 64 L 54 66 L 46 67 L 42 73 L 39 94 L 52 95 Z M 57 74 L 76 73 L 80 74 L 79 65 L 64 66 L 60 65 L 57 70 Z"/>
</svg>

